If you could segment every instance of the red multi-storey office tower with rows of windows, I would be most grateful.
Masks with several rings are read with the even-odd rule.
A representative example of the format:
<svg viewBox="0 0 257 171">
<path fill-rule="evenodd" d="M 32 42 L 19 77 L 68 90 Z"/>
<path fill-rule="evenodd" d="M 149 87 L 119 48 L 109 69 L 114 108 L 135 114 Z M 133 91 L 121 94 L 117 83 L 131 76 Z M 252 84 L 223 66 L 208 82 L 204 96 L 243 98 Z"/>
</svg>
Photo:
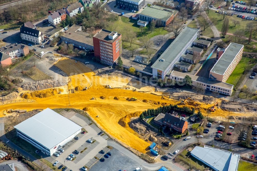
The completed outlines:
<svg viewBox="0 0 257 171">
<path fill-rule="evenodd" d="M 96 59 L 106 65 L 113 65 L 114 61 L 122 56 L 121 34 L 100 30 L 93 36 L 94 53 Z"/>
</svg>

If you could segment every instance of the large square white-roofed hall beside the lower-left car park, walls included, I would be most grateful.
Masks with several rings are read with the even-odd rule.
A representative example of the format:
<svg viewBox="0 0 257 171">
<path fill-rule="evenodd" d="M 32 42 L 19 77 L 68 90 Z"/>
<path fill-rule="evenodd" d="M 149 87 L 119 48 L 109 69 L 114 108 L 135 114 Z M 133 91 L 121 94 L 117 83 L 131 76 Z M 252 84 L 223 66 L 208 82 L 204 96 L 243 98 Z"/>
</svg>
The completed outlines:
<svg viewBox="0 0 257 171">
<path fill-rule="evenodd" d="M 42 153 L 52 156 L 78 135 L 82 127 L 47 108 L 14 128 L 20 138 L 40 149 Z"/>
</svg>

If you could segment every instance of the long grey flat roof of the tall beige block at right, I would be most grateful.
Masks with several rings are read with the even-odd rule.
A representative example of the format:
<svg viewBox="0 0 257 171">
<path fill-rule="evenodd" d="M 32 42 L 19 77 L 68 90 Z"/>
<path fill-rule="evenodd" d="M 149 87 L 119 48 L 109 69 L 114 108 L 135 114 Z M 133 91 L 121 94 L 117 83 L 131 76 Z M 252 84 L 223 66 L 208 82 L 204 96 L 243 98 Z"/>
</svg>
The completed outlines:
<svg viewBox="0 0 257 171">
<path fill-rule="evenodd" d="M 244 45 L 237 43 L 230 43 L 221 57 L 218 59 L 216 64 L 211 69 L 211 72 L 215 72 L 218 74 L 224 74 L 227 68 L 230 66 L 232 61 L 235 59 L 238 52 L 240 52 L 241 48 L 244 48 Z"/>
</svg>

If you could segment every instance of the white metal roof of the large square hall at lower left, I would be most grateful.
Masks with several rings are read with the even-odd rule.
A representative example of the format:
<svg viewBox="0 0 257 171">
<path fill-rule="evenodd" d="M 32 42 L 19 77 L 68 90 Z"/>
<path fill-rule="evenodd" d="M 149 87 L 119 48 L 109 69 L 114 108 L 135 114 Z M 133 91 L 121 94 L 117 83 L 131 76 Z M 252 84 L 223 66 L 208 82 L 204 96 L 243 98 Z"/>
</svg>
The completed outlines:
<svg viewBox="0 0 257 171">
<path fill-rule="evenodd" d="M 51 149 L 82 127 L 47 108 L 14 128 Z"/>
</svg>

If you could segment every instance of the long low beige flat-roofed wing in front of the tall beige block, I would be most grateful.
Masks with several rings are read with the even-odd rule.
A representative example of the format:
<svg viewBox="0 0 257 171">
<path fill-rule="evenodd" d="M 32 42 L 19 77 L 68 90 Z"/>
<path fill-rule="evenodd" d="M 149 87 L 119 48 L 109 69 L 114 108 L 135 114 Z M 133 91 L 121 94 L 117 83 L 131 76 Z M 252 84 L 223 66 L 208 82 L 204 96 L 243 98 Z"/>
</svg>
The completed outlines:
<svg viewBox="0 0 257 171">
<path fill-rule="evenodd" d="M 207 91 L 215 91 L 221 94 L 225 94 L 227 96 L 230 96 L 233 91 L 232 84 L 228 84 L 217 80 L 216 81 L 209 80 L 208 78 L 199 77 L 196 75 L 190 75 L 188 73 L 183 73 L 179 71 L 173 70 L 169 77 L 173 81 L 173 83 L 175 82 L 179 83 L 179 82 L 183 82 L 183 79 L 185 78 L 186 75 L 189 75 L 191 77 L 192 86 L 196 86 L 198 83 L 198 84 L 201 84 L 201 86 Z"/>
</svg>

